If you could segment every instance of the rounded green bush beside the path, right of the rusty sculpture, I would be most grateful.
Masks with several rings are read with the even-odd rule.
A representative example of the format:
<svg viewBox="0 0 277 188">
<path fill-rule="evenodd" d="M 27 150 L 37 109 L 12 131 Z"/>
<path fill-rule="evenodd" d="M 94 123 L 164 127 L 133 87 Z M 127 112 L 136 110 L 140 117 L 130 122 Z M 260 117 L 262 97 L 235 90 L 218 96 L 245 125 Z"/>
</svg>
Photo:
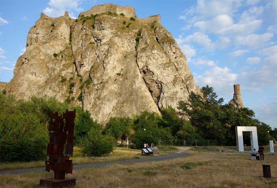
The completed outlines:
<svg viewBox="0 0 277 188">
<path fill-rule="evenodd" d="M 92 127 L 84 138 L 84 147 L 81 152 L 84 156 L 106 156 L 113 151 L 115 141 L 109 136 L 101 134 L 101 130 Z"/>
</svg>

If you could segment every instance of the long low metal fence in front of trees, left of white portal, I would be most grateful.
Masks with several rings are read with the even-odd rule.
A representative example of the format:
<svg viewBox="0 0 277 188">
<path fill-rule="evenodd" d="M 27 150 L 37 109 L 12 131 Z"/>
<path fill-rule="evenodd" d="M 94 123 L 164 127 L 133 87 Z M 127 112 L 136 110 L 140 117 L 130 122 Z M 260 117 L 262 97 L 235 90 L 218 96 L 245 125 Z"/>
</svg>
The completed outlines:
<svg viewBox="0 0 277 188">
<path fill-rule="evenodd" d="M 217 146 L 216 140 L 156 140 L 156 146 Z"/>
</svg>

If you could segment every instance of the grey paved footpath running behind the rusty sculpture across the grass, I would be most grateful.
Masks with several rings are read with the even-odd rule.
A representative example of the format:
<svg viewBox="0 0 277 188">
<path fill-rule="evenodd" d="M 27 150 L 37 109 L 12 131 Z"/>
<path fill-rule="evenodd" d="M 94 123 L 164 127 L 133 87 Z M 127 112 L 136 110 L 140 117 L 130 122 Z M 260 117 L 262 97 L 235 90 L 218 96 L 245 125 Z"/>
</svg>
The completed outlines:
<svg viewBox="0 0 277 188">
<path fill-rule="evenodd" d="M 187 148 L 184 147 L 178 147 L 180 149 L 177 153 L 168 153 L 168 155 L 162 155 L 155 157 L 153 155 L 150 157 L 140 158 L 140 159 L 129 159 L 129 160 L 122 160 L 122 161 L 110 161 L 110 162 L 103 162 L 103 163 L 90 163 L 90 164 L 83 164 L 83 165 L 73 165 L 74 169 L 79 168 L 89 168 L 89 167 L 101 167 L 105 165 L 112 165 L 112 164 L 128 164 L 128 163 L 141 163 L 146 161 L 161 161 L 165 159 L 174 159 L 178 157 L 184 157 L 188 156 L 190 154 L 187 153 L 181 153 L 183 151 L 186 151 Z M 17 169 L 17 170 L 1 170 L 0 174 L 10 173 L 10 174 L 20 174 L 25 172 L 34 172 L 34 171 L 45 171 L 45 167 L 41 168 L 28 168 L 28 169 Z"/>
</svg>

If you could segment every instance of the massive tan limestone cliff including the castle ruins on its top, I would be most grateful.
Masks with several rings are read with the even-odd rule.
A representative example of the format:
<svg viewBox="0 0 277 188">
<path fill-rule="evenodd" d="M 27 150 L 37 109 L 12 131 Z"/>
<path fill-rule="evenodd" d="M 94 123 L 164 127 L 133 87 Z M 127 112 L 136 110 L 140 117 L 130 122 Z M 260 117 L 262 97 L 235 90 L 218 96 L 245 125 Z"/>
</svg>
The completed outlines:
<svg viewBox="0 0 277 188">
<path fill-rule="evenodd" d="M 41 13 L 7 93 L 23 99 L 55 96 L 83 106 L 101 123 L 144 110 L 159 113 L 198 93 L 186 57 L 160 25 L 160 15 L 130 20 L 133 7 L 97 6 L 101 9 L 95 6 L 78 19 L 67 12 L 58 18 Z"/>
</svg>

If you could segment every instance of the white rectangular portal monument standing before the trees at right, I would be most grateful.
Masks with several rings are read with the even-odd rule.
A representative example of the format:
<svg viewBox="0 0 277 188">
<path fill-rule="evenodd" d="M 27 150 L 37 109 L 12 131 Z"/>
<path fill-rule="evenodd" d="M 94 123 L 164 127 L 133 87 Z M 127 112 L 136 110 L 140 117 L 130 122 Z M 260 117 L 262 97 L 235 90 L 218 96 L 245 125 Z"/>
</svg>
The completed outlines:
<svg viewBox="0 0 277 188">
<path fill-rule="evenodd" d="M 258 136 L 256 127 L 236 126 L 237 151 L 244 151 L 242 132 L 250 132 L 251 151 L 258 149 Z"/>
</svg>

